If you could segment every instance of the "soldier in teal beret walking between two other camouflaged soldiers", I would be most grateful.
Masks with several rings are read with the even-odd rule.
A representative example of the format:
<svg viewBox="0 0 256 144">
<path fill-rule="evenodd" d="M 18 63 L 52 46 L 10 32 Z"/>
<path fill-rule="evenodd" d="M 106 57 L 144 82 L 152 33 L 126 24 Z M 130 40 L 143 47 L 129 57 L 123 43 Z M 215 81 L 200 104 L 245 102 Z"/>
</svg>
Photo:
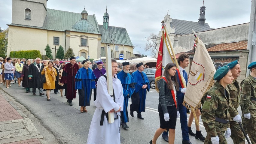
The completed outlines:
<svg viewBox="0 0 256 144">
<path fill-rule="evenodd" d="M 232 84 L 227 85 L 229 89 L 230 99 L 234 106 L 234 109 L 237 110 L 240 102 L 240 85 L 237 81 L 237 77 L 240 76 L 241 67 L 238 64 L 238 60 L 232 61 L 229 64 L 230 71 L 234 78 Z M 231 138 L 234 144 L 245 144 L 244 135 L 242 129 L 239 126 L 239 123 L 233 120 L 233 117 L 230 116 L 229 119 L 230 129 L 231 129 Z"/>
</svg>

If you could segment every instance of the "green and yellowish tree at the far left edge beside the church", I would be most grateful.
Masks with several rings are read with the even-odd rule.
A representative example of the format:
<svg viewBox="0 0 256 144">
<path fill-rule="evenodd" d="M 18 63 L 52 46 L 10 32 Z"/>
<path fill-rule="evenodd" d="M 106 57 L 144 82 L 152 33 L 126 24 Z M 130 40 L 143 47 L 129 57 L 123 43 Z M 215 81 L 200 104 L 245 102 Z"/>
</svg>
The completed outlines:
<svg viewBox="0 0 256 144">
<path fill-rule="evenodd" d="M 8 47 L 8 31 L 9 29 L 2 30 L 0 28 L 0 57 L 6 57 Z"/>
</svg>

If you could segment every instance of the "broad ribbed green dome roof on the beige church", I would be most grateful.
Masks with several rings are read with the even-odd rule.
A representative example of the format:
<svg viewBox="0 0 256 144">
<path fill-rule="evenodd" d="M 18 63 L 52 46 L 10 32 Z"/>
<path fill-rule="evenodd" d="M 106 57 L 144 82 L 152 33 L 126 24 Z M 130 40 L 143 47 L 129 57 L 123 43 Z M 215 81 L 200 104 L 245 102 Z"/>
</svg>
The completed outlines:
<svg viewBox="0 0 256 144">
<path fill-rule="evenodd" d="M 87 19 L 79 20 L 72 26 L 72 29 L 77 29 L 83 32 L 96 32 L 93 25 Z"/>
</svg>

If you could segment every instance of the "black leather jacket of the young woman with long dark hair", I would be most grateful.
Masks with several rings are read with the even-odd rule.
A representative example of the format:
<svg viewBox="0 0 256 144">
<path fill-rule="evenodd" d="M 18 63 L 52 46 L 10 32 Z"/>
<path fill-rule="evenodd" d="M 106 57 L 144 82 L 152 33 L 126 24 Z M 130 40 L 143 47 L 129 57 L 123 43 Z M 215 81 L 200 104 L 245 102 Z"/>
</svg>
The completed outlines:
<svg viewBox="0 0 256 144">
<path fill-rule="evenodd" d="M 163 113 L 168 113 L 167 106 L 175 106 L 175 103 L 172 98 L 172 92 L 168 88 L 167 83 L 164 79 L 160 79 L 157 84 L 159 89 L 159 98 L 158 98 L 159 103 L 162 106 Z M 177 105 L 178 105 L 178 102 L 177 102 Z M 178 111 L 178 107 L 177 107 L 177 111 Z"/>
</svg>

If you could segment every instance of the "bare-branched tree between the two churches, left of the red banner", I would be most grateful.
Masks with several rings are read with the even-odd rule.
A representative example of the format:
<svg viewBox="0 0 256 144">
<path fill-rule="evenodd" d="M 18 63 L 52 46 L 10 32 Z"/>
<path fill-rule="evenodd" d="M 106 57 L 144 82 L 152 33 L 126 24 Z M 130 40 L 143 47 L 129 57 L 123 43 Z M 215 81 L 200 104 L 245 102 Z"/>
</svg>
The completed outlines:
<svg viewBox="0 0 256 144">
<path fill-rule="evenodd" d="M 156 57 L 157 55 L 157 35 L 151 33 L 149 37 L 146 39 L 145 43 L 145 51 L 150 51 L 152 57 Z"/>
</svg>

